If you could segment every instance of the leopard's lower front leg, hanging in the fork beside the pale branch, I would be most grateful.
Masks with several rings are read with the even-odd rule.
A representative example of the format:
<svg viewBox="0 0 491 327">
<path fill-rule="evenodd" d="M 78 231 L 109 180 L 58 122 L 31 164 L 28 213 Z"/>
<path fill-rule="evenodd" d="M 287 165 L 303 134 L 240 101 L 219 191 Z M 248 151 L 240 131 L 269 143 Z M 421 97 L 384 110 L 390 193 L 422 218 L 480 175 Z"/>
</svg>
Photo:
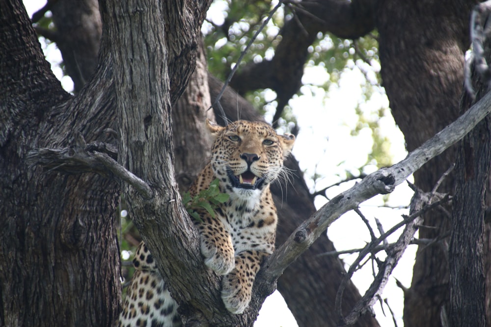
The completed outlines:
<svg viewBox="0 0 491 327">
<path fill-rule="evenodd" d="M 221 299 L 228 311 L 243 313 L 249 305 L 252 295 L 252 285 L 261 262 L 269 254 L 249 250 L 235 257 L 235 269 L 224 276 L 221 282 Z"/>
</svg>

